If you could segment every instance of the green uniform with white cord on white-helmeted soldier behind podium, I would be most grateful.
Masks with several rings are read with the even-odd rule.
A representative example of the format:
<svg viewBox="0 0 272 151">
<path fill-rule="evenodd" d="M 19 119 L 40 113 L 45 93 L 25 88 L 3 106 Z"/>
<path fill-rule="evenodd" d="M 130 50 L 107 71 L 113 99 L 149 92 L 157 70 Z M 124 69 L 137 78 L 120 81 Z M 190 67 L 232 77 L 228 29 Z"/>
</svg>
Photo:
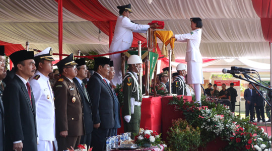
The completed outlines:
<svg viewBox="0 0 272 151">
<path fill-rule="evenodd" d="M 184 96 L 187 95 L 186 84 L 184 82 L 184 79 L 180 75 L 178 75 L 178 77 L 172 83 L 172 90 L 173 90 L 173 94 L 184 95 Z"/>
</svg>

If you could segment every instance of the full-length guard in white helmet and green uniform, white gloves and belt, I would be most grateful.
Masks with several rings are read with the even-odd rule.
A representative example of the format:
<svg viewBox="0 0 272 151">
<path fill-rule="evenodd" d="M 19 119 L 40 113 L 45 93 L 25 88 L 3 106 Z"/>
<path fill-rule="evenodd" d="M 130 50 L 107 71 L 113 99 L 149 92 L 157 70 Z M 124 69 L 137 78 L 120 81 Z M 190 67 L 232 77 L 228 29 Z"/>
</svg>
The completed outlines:
<svg viewBox="0 0 272 151">
<path fill-rule="evenodd" d="M 142 59 L 138 55 L 131 55 L 127 59 L 129 71 L 123 79 L 124 105 L 122 116 L 124 118 L 124 132 L 139 133 L 141 122 L 142 92 L 139 87 L 137 73 L 140 71 Z"/>
</svg>

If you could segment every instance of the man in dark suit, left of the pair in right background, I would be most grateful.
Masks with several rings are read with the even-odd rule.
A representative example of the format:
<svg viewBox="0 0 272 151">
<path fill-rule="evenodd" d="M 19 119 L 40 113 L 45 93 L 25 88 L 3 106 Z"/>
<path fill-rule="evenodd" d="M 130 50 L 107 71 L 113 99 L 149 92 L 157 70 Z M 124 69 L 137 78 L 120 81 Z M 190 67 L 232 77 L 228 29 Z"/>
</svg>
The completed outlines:
<svg viewBox="0 0 272 151">
<path fill-rule="evenodd" d="M 253 102 L 253 97 L 252 94 L 255 92 L 253 90 L 253 86 L 251 83 L 248 85 L 248 89 L 245 90 L 244 93 L 244 98 L 245 98 L 245 107 L 246 107 L 246 117 L 249 115 L 250 111 L 250 121 L 253 122 L 253 110 L 254 110 L 254 102 Z"/>
</svg>

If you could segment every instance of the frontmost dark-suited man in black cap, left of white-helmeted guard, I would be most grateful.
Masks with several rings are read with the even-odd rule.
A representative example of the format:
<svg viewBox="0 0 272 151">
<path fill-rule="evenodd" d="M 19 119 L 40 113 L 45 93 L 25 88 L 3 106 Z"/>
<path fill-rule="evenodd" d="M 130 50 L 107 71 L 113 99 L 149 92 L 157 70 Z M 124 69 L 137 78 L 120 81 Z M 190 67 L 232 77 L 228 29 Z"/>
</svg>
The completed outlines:
<svg viewBox="0 0 272 151">
<path fill-rule="evenodd" d="M 95 73 L 88 81 L 87 91 L 93 105 L 93 151 L 101 151 L 105 149 L 106 137 L 111 135 L 114 127 L 114 104 L 113 92 L 104 79 L 109 75 L 110 59 L 98 57 L 94 61 Z"/>
</svg>

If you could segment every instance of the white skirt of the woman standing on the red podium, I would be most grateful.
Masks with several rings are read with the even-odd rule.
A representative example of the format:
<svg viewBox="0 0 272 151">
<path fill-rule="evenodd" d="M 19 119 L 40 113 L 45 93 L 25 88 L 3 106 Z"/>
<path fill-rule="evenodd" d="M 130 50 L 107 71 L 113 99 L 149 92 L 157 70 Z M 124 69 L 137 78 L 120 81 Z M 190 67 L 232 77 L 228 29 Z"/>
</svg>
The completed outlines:
<svg viewBox="0 0 272 151">
<path fill-rule="evenodd" d="M 187 61 L 187 83 L 204 84 L 202 62 Z"/>
</svg>

